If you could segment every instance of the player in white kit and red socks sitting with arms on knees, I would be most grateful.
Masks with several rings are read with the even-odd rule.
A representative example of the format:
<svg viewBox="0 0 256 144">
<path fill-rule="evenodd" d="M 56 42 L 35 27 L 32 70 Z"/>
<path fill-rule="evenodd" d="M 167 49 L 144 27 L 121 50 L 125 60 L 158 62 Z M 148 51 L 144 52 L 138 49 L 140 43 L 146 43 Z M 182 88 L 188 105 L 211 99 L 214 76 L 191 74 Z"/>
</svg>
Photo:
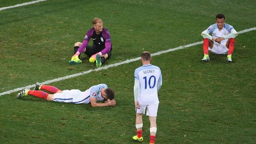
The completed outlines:
<svg viewBox="0 0 256 144">
<path fill-rule="evenodd" d="M 233 26 L 225 23 L 223 14 L 216 15 L 216 24 L 209 26 L 201 35 L 204 37 L 204 58 L 202 62 L 210 61 L 208 54 L 208 50 L 210 50 L 213 54 L 228 54 L 226 60 L 232 63 L 232 53 L 235 48 L 237 32 Z"/>
</svg>

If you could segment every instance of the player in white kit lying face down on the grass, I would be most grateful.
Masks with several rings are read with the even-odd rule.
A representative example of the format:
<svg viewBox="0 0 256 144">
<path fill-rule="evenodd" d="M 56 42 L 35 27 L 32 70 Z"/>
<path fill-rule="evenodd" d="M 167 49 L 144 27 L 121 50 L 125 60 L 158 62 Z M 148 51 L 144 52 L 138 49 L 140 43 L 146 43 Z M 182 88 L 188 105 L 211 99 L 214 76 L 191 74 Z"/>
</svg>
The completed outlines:
<svg viewBox="0 0 256 144">
<path fill-rule="evenodd" d="M 41 90 L 46 90 L 54 94 L 48 94 Z M 36 83 L 35 90 L 25 88 L 17 95 L 17 98 L 22 98 L 28 95 L 55 102 L 91 103 L 92 107 L 115 106 L 116 104 L 114 99 L 115 92 L 108 88 L 106 84 L 95 85 L 84 92 L 81 92 L 78 89 L 62 91 L 51 85 L 41 85 L 40 83 Z M 104 100 L 104 103 L 97 103 L 97 101 L 101 100 Z"/>
</svg>

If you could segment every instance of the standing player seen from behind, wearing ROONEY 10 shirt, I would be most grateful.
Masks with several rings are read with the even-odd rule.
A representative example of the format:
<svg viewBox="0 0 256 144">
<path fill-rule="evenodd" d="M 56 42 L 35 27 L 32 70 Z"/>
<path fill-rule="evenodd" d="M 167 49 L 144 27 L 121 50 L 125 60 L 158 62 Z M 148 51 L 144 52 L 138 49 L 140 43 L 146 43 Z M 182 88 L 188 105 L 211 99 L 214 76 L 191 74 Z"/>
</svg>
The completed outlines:
<svg viewBox="0 0 256 144">
<path fill-rule="evenodd" d="M 135 127 L 137 135 L 132 137 L 139 142 L 142 137 L 142 115 L 147 109 L 147 116 L 150 121 L 150 144 L 155 143 L 156 139 L 156 116 L 158 111 L 158 90 L 162 86 L 161 70 L 158 66 L 150 64 L 151 57 L 149 52 L 141 54 L 143 66 L 137 68 L 134 72 L 134 101 L 136 111 Z"/>
</svg>

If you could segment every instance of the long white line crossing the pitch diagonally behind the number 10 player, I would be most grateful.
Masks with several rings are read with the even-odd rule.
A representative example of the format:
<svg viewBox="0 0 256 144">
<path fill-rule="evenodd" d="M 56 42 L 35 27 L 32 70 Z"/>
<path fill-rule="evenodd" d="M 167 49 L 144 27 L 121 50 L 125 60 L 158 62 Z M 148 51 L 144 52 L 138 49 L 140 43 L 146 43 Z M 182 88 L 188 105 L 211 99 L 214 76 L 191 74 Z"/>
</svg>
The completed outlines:
<svg viewBox="0 0 256 144">
<path fill-rule="evenodd" d="M 250 28 L 250 29 L 246 29 L 246 30 L 242 30 L 242 31 L 239 31 L 238 33 L 241 34 L 241 33 L 246 33 L 248 31 L 253 31 L 253 30 L 256 30 L 256 27 Z M 191 47 L 191 46 L 196 46 L 196 45 L 202 44 L 202 43 L 203 43 L 203 41 L 200 41 L 200 42 L 195 42 L 195 43 L 192 43 L 192 44 L 187 44 L 185 46 L 179 46 L 177 48 L 171 48 L 169 50 L 164 50 L 164 51 L 156 52 L 154 54 L 151 54 L 151 56 L 165 54 L 167 52 L 173 52 L 174 50 L 180 50 L 180 49 L 188 48 L 188 47 Z M 69 79 L 69 78 L 73 78 L 73 77 L 76 77 L 76 76 L 81 76 L 81 75 L 84 75 L 84 74 L 89 74 L 90 72 L 99 71 L 99 70 L 105 70 L 105 69 L 108 69 L 108 68 L 111 68 L 111 67 L 123 65 L 123 64 L 126 64 L 126 63 L 131 63 L 131 62 L 137 61 L 139 59 L 141 59 L 141 57 L 137 57 L 137 58 L 134 58 L 134 59 L 128 59 L 128 60 L 120 62 L 120 63 L 115 63 L 115 64 L 111 64 L 111 65 L 102 66 L 102 67 L 96 68 L 94 70 L 87 70 L 85 72 L 79 72 L 79 73 L 76 73 L 76 74 L 71 74 L 69 76 L 64 76 L 64 77 L 61 77 L 61 78 L 56 78 L 56 79 L 48 80 L 48 81 L 42 82 L 41 84 L 42 85 L 46 85 L 46 84 L 57 82 L 57 81 L 61 81 L 61 80 L 64 80 L 64 79 Z M 35 84 L 28 85 L 26 87 L 32 88 L 34 86 L 35 86 Z M 9 90 L 9 91 L 6 91 L 6 92 L 2 92 L 2 93 L 0 93 L 0 96 L 5 95 L 5 94 L 11 94 L 12 92 L 17 92 L 17 91 L 23 90 L 26 87 L 20 87 L 20 88 L 17 88 L 17 89 L 13 89 L 13 90 Z"/>
</svg>

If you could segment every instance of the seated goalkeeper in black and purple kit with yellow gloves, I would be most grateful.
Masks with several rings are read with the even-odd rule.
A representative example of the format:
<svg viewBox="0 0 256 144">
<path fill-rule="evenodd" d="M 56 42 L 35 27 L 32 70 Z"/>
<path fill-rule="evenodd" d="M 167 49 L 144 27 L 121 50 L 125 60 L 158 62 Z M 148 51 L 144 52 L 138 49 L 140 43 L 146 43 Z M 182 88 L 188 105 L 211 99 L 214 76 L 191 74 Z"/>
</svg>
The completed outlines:
<svg viewBox="0 0 256 144">
<path fill-rule="evenodd" d="M 88 46 L 90 39 L 93 39 L 93 46 Z M 93 19 L 93 28 L 87 31 L 83 43 L 76 42 L 74 44 L 74 55 L 69 61 L 70 65 L 82 63 L 79 59 L 80 54 L 84 52 L 90 57 L 89 62 L 96 61 L 96 67 L 100 67 L 111 56 L 111 37 L 109 31 L 103 27 L 100 18 Z"/>
</svg>

